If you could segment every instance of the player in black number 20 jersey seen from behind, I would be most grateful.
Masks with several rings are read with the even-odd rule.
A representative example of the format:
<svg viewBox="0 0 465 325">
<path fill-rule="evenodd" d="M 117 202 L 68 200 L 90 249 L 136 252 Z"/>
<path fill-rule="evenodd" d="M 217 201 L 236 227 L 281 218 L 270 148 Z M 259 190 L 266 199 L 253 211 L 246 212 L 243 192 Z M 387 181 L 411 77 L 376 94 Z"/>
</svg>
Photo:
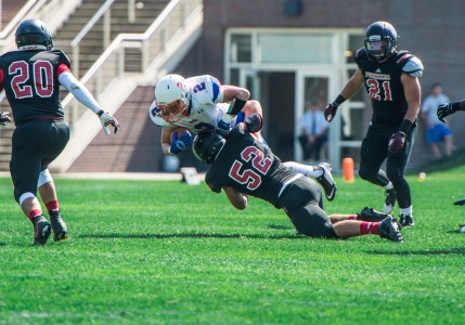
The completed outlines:
<svg viewBox="0 0 465 325">
<path fill-rule="evenodd" d="M 12 139 L 10 172 L 14 197 L 34 224 L 34 245 L 67 238 L 67 226 L 59 209 L 55 185 L 48 166 L 66 146 L 69 127 L 59 99 L 60 84 L 100 118 L 104 131 L 119 130 L 118 121 L 104 113 L 89 90 L 69 70 L 69 60 L 53 50 L 46 24 L 26 20 L 16 29 L 17 51 L 0 56 L 0 91 L 4 89 L 12 108 L 15 130 Z M 3 119 L 3 114 L 2 114 Z M 43 217 L 37 191 L 50 222 Z"/>
</svg>

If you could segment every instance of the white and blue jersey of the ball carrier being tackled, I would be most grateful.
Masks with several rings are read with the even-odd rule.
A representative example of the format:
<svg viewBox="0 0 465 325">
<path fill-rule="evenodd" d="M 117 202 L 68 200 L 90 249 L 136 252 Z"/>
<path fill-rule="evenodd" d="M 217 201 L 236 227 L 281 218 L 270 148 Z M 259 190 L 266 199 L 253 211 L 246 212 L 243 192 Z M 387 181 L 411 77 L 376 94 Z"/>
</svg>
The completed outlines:
<svg viewBox="0 0 465 325">
<path fill-rule="evenodd" d="M 198 133 L 203 129 L 217 129 L 218 121 L 224 116 L 229 104 L 221 103 L 223 93 L 221 83 L 217 78 L 203 75 L 185 79 L 191 92 L 191 105 L 189 115 L 183 116 L 176 125 L 163 119 L 160 109 L 156 107 L 155 101 L 148 108 L 152 121 L 163 128 L 172 129 L 178 127 Z"/>
</svg>

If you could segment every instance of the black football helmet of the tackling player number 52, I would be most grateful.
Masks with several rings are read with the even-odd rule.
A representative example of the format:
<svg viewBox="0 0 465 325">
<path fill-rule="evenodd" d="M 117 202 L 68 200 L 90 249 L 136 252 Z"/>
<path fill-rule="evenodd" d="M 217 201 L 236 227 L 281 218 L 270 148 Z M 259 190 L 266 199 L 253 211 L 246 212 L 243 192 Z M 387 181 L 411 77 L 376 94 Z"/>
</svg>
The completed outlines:
<svg viewBox="0 0 465 325">
<path fill-rule="evenodd" d="M 214 131 L 198 133 L 194 139 L 192 151 L 198 160 L 206 164 L 212 164 L 227 141 L 220 134 Z"/>
</svg>

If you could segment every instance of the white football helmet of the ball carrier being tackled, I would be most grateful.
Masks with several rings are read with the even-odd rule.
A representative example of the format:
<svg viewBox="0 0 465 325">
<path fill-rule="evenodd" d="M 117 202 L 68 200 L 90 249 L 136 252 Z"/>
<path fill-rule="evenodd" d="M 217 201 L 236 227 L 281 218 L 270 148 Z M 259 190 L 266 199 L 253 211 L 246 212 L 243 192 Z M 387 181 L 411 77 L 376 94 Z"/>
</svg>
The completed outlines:
<svg viewBox="0 0 465 325">
<path fill-rule="evenodd" d="M 167 75 L 159 79 L 155 86 L 155 103 L 166 121 L 179 121 L 191 104 L 191 92 L 185 79 L 180 75 Z"/>
</svg>

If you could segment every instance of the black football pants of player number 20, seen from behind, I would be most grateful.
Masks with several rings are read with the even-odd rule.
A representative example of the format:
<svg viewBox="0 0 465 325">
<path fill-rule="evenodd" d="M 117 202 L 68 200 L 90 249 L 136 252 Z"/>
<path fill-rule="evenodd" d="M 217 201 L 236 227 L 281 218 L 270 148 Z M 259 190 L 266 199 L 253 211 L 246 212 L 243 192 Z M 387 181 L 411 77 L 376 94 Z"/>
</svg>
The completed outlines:
<svg viewBox="0 0 465 325">
<path fill-rule="evenodd" d="M 27 120 L 16 125 L 10 161 L 16 202 L 27 192 L 37 195 L 39 173 L 61 154 L 68 140 L 69 127 L 63 120 Z"/>
</svg>

